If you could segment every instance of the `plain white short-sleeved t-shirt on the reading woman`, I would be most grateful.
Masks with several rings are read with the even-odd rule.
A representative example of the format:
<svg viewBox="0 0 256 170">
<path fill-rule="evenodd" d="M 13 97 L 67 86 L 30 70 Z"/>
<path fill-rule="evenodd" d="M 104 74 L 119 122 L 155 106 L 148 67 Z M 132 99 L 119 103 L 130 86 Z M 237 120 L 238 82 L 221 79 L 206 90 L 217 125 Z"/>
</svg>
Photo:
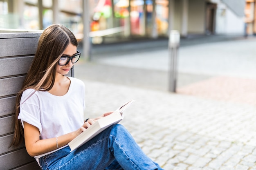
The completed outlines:
<svg viewBox="0 0 256 170">
<path fill-rule="evenodd" d="M 40 139 L 73 132 L 84 123 L 84 83 L 74 77 L 68 78 L 71 81 L 70 87 L 63 96 L 55 96 L 47 91 L 34 89 L 27 89 L 22 93 L 18 119 L 21 119 L 22 125 L 23 121 L 26 121 L 36 126 L 40 132 Z"/>
</svg>

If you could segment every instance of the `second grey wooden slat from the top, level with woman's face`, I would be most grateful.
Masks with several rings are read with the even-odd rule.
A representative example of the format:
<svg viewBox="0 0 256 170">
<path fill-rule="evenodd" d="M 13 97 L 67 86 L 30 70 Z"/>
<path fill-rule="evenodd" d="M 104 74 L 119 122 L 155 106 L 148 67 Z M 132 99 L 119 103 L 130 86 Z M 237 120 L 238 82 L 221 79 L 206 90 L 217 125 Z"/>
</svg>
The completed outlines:
<svg viewBox="0 0 256 170">
<path fill-rule="evenodd" d="M 27 73 L 33 57 L 0 58 L 0 77 Z"/>
</svg>

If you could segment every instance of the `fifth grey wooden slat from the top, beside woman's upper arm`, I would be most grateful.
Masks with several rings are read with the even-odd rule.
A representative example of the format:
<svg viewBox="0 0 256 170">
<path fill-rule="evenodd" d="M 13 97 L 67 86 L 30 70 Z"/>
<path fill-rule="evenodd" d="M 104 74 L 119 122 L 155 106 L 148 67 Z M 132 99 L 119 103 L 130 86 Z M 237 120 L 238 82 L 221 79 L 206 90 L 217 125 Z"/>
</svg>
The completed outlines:
<svg viewBox="0 0 256 170">
<path fill-rule="evenodd" d="M 0 118 L 0 136 L 13 132 L 13 116 Z"/>
</svg>

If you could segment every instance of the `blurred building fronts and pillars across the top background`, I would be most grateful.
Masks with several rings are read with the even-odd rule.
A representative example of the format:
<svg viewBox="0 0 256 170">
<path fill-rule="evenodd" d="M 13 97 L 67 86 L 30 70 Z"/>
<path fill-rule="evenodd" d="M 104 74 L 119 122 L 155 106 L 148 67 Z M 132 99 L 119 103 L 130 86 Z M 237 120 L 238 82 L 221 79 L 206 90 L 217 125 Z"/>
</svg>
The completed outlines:
<svg viewBox="0 0 256 170">
<path fill-rule="evenodd" d="M 248 3 L 253 7 L 248 7 Z M 254 11 L 245 24 L 245 11 L 254 10 L 254 3 L 254 0 L 0 0 L 0 28 L 45 29 L 52 23 L 61 23 L 79 40 L 84 34 L 89 35 L 94 44 L 168 38 L 173 29 L 182 37 L 243 34 L 245 29 L 255 33 Z M 89 25 L 87 33 L 83 31 L 83 23 Z"/>
</svg>

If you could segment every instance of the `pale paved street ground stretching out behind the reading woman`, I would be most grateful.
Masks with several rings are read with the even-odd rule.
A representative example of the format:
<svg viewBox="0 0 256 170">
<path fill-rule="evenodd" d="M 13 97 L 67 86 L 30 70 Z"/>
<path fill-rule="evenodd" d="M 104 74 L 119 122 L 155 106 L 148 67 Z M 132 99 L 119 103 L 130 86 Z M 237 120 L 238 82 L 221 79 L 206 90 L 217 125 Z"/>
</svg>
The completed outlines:
<svg viewBox="0 0 256 170">
<path fill-rule="evenodd" d="M 92 47 L 92 61 L 75 66 L 85 118 L 135 99 L 121 124 L 166 170 L 255 170 L 256 39 L 211 38 L 181 41 L 177 93 L 168 91 L 168 41 Z"/>
</svg>

